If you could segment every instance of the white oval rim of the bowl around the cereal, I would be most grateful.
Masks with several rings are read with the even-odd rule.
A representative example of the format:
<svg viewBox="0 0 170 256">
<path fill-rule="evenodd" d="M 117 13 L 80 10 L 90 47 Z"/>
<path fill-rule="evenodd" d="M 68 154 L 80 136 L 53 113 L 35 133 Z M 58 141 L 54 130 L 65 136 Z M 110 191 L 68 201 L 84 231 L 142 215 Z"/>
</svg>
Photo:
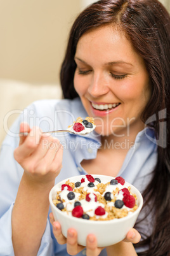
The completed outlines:
<svg viewBox="0 0 170 256">
<path fill-rule="evenodd" d="M 49 192 L 49 203 L 50 203 L 50 206 L 51 206 L 51 209 L 53 208 L 53 210 L 55 210 L 56 212 L 58 212 L 60 215 L 62 215 L 63 217 L 65 218 L 68 218 L 69 220 L 73 221 L 75 220 L 76 222 L 80 222 L 80 223 L 93 223 L 95 225 L 98 225 L 98 224 L 110 224 L 110 222 L 114 222 L 114 223 L 117 223 L 117 222 L 124 222 L 128 219 L 131 219 L 133 216 L 136 216 L 140 213 L 141 211 L 141 208 L 143 206 L 143 197 L 141 196 L 141 193 L 140 191 L 138 190 L 138 188 L 134 187 L 131 183 L 129 183 L 128 181 L 126 181 L 126 183 L 132 188 L 132 190 L 135 190 L 135 192 L 133 192 L 134 194 L 138 194 L 138 208 L 130 215 L 127 215 L 126 217 L 122 217 L 122 218 L 114 218 L 114 219 L 111 219 L 111 220 L 86 220 L 86 219 L 82 219 L 82 218 L 75 218 L 73 216 L 70 216 L 70 215 L 66 215 L 65 213 L 63 213 L 61 210 L 59 210 L 58 208 L 56 208 L 55 204 L 53 203 L 53 199 L 52 199 L 52 195 L 53 195 L 53 192 L 55 192 L 56 188 L 58 187 L 58 185 L 60 185 L 60 183 L 63 183 L 67 180 L 70 180 L 72 178 L 80 178 L 82 176 L 86 176 L 86 174 L 82 174 L 82 175 L 77 175 L 77 176 L 70 176 L 69 178 L 66 178 L 64 180 L 61 180 L 59 181 L 58 183 L 56 183 L 53 188 L 51 188 L 50 192 Z M 116 178 L 114 176 L 108 176 L 108 175 L 100 175 L 100 174 L 91 174 L 91 176 L 93 176 L 94 178 L 102 178 L 102 177 L 108 177 L 108 178 Z M 71 180 L 70 180 L 71 181 Z"/>
</svg>

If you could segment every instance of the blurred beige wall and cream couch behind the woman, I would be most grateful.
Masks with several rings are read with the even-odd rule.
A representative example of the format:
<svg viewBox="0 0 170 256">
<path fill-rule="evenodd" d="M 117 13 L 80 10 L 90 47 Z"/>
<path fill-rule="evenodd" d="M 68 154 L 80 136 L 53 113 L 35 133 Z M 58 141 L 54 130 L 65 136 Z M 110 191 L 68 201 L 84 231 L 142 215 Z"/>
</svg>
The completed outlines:
<svg viewBox="0 0 170 256">
<path fill-rule="evenodd" d="M 93 2 L 0 0 L 0 144 L 18 115 L 12 110 L 62 97 L 59 72 L 70 27 Z M 161 2 L 170 10 L 169 0 Z"/>
</svg>

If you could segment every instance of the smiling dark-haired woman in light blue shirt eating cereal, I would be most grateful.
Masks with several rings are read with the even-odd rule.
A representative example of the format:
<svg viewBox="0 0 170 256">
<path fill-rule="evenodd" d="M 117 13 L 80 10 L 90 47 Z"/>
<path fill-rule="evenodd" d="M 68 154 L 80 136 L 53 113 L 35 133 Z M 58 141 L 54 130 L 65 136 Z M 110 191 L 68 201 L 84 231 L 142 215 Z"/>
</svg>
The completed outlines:
<svg viewBox="0 0 170 256">
<path fill-rule="evenodd" d="M 17 139 L 8 137 L 3 143 L 1 162 L 8 152 L 12 164 L 1 167 L 5 196 L 0 234 L 8 240 L 8 245 L 2 243 L 8 253 L 2 249 L 1 255 L 13 255 L 13 250 L 15 255 L 67 255 L 60 245 L 65 243 L 69 254 L 82 255 L 76 232 L 70 229 L 66 240 L 52 214 L 58 243 L 50 235 L 48 193 L 63 178 L 102 174 L 103 169 L 107 175 L 121 174 L 143 193 L 145 204 L 136 224 L 141 241 L 132 229 L 125 241 L 101 250 L 91 234 L 87 255 L 168 255 L 169 42 L 169 14 L 157 0 L 98 1 L 77 17 L 61 71 L 65 100 L 29 106 L 11 129 L 16 133 L 22 122 L 20 132 L 29 136 L 20 138 L 17 148 Z M 32 129 L 37 124 L 43 131 L 49 126 L 65 129 L 73 116 L 86 115 L 96 124 L 96 133 L 87 138 L 63 135 L 59 142 Z M 14 148 L 20 165 L 12 159 Z"/>
</svg>

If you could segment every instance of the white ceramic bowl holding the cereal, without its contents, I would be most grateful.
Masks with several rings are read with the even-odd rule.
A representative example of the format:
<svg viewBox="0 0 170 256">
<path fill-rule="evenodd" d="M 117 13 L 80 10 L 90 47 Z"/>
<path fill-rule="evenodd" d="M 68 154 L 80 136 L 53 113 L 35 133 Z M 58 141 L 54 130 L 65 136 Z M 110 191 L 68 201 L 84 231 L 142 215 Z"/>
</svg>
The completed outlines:
<svg viewBox="0 0 170 256">
<path fill-rule="evenodd" d="M 58 220 L 58 222 L 60 222 L 62 226 L 63 235 L 67 238 L 67 230 L 71 227 L 77 231 L 79 245 L 86 246 L 86 237 L 88 236 L 88 234 L 95 234 L 98 241 L 98 247 L 110 246 L 114 245 L 115 243 L 119 243 L 119 241 L 126 237 L 129 229 L 134 226 L 140 210 L 143 206 L 143 198 L 140 192 L 133 185 L 126 182 L 129 186 L 131 186 L 131 192 L 136 194 L 136 196 L 138 197 L 138 209 L 134 211 L 131 215 L 128 215 L 126 217 L 119 219 L 115 218 L 114 220 L 95 221 L 68 216 L 60 211 L 58 208 L 56 208 L 55 204 L 53 204 L 53 199 L 55 199 L 56 197 L 56 190 L 58 188 L 61 188 L 61 185 L 64 184 L 65 181 L 80 181 L 82 176 L 84 175 L 74 176 L 60 181 L 49 192 L 49 203 L 51 205 L 51 210 L 53 212 L 55 220 Z M 106 183 L 114 178 L 111 176 L 95 174 L 93 175 L 93 177 L 100 178 L 101 183 Z"/>
</svg>

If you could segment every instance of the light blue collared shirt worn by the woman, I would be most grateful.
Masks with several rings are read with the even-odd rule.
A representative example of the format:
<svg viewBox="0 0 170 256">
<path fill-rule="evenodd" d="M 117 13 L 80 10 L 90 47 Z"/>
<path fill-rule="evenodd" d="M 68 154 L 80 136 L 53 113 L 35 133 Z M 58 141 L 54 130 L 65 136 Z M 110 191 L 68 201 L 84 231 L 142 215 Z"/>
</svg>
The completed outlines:
<svg viewBox="0 0 170 256">
<path fill-rule="evenodd" d="M 86 118 L 88 114 L 84 110 L 79 99 L 74 100 L 42 100 L 36 101 L 26 108 L 4 139 L 0 154 L 0 255 L 14 255 L 11 240 L 11 212 L 22 178 L 23 169 L 15 161 L 13 151 L 19 143 L 20 122 L 27 122 L 30 127 L 39 126 L 42 131 L 67 129 L 77 117 Z M 55 134 L 56 136 L 56 134 Z M 63 145 L 63 167 L 56 177 L 56 183 L 70 176 L 86 174 L 81 166 L 83 159 L 95 159 L 98 148 L 100 148 L 100 136 L 95 131 L 87 136 L 72 135 L 69 133 L 57 134 Z M 151 138 L 151 139 L 150 139 Z M 145 129 L 136 136 L 134 146 L 131 147 L 126 159 L 119 171 L 126 181 L 132 183 L 141 192 L 147 186 L 152 177 L 152 170 L 157 161 L 157 145 L 153 142 L 154 131 Z M 44 145 L 46 146 L 46 145 Z M 114 145 L 110 145 L 114 146 Z M 49 212 L 51 210 L 49 209 Z M 143 213 L 141 211 L 140 217 Z M 141 229 L 150 234 L 152 226 L 150 217 L 145 219 Z M 69 255 L 65 245 L 58 245 L 51 231 L 51 224 L 47 220 L 46 230 L 42 236 L 41 246 L 37 255 Z M 141 250 L 143 250 L 141 248 Z M 79 256 L 86 255 L 84 249 Z M 107 255 L 105 250 L 100 254 Z"/>
</svg>

